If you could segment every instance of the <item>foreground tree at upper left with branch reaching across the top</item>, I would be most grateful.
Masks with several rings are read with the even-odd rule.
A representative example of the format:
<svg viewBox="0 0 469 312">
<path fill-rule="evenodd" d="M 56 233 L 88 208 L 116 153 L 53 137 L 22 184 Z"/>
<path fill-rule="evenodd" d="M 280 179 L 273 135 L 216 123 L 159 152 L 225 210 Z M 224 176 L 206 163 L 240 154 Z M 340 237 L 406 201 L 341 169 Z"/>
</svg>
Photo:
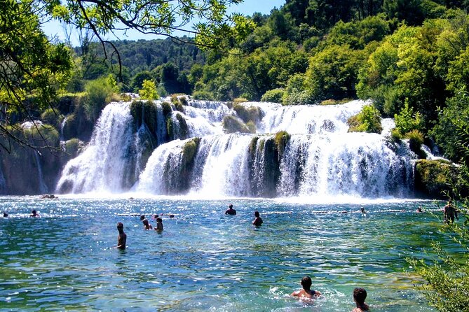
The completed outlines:
<svg viewBox="0 0 469 312">
<path fill-rule="evenodd" d="M 105 58 L 121 57 L 114 43 L 104 36 L 116 29 L 135 29 L 143 34 L 176 38 L 175 31 L 195 36 L 205 48 L 229 48 L 252 31 L 253 22 L 242 15 L 226 15 L 230 4 L 242 0 L 4 0 L 0 6 L 0 136 L 27 146 L 9 130 L 25 118 L 34 121 L 34 111 L 53 103 L 57 90 L 69 80 L 72 62 L 63 44 L 53 45 L 41 31 L 41 21 L 57 18 L 78 29 L 90 29 L 102 43 Z M 200 18 L 194 29 L 191 20 Z M 105 43 L 111 45 L 111 51 Z M 112 52 L 112 53 L 111 53 Z M 115 52 L 115 53 L 114 53 Z M 146 60 L 145 60 L 146 61 Z M 26 102 L 25 100 L 28 99 Z M 11 150 L 8 143 L 1 144 Z M 31 146 L 34 147 L 34 146 Z"/>
</svg>

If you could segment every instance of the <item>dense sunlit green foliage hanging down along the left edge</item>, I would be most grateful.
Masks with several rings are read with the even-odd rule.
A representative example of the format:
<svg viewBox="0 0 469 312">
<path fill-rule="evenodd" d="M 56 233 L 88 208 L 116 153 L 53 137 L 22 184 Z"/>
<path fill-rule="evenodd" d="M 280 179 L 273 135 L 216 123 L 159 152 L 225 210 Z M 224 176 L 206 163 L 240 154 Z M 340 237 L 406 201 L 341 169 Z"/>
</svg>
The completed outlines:
<svg viewBox="0 0 469 312">
<path fill-rule="evenodd" d="M 21 139 L 13 130 L 20 129 L 16 123 L 26 118 L 41 136 L 35 116 L 50 106 L 72 73 L 69 49 L 51 44 L 41 31 L 35 13 L 41 8 L 40 3 L 30 1 L 1 1 L 0 146 L 8 153 L 13 142 L 41 146 Z"/>
</svg>

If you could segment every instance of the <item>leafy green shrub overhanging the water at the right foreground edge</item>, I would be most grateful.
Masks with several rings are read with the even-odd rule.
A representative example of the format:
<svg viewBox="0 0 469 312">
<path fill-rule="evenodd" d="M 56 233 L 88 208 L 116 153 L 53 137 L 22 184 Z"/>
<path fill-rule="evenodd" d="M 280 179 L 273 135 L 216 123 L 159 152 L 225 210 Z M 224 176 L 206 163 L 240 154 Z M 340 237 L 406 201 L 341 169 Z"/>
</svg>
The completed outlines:
<svg viewBox="0 0 469 312">
<path fill-rule="evenodd" d="M 468 125 L 459 125 L 456 132 L 461 135 L 458 147 L 469 154 Z M 449 164 L 447 164 L 449 166 Z M 434 242 L 428 250 L 430 261 L 410 259 L 416 272 L 425 280 L 419 285 L 428 302 L 438 311 L 469 311 L 469 167 L 462 162 L 457 169 L 439 173 L 447 180 L 447 196 L 454 200 L 459 211 L 458 222 L 440 226 L 440 231 L 452 240 L 453 248 Z M 446 177 L 445 177 L 446 176 Z"/>
</svg>

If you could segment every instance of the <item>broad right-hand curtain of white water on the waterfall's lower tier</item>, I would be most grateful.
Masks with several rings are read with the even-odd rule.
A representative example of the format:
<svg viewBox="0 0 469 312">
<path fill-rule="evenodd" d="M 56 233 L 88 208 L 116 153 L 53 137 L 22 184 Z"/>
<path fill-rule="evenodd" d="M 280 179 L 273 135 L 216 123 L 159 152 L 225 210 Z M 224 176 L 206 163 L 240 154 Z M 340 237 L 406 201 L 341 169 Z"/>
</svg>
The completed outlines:
<svg viewBox="0 0 469 312">
<path fill-rule="evenodd" d="M 409 157 L 396 155 L 379 134 L 346 133 L 290 139 L 280 164 L 283 196 L 408 195 Z"/>
</svg>

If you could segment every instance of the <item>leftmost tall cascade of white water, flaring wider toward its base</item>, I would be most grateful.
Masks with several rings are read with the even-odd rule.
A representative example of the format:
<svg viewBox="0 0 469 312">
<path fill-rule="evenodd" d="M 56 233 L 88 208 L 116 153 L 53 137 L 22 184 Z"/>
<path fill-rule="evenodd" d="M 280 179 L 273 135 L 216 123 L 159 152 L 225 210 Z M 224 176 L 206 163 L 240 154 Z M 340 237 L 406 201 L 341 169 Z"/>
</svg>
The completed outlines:
<svg viewBox="0 0 469 312">
<path fill-rule="evenodd" d="M 123 192 L 126 157 L 132 143 L 131 121 L 129 103 L 108 104 L 87 148 L 64 167 L 57 190 Z"/>
</svg>

